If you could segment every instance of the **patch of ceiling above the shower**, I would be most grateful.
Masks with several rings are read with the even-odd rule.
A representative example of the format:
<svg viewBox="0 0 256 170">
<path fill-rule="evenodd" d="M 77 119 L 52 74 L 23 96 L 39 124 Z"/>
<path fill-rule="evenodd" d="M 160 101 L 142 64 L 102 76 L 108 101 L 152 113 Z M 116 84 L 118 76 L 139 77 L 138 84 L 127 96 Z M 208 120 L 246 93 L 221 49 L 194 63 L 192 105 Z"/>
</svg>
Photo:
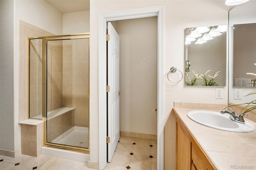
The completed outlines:
<svg viewBox="0 0 256 170">
<path fill-rule="evenodd" d="M 90 10 L 90 0 L 45 0 L 62 14 Z"/>
</svg>

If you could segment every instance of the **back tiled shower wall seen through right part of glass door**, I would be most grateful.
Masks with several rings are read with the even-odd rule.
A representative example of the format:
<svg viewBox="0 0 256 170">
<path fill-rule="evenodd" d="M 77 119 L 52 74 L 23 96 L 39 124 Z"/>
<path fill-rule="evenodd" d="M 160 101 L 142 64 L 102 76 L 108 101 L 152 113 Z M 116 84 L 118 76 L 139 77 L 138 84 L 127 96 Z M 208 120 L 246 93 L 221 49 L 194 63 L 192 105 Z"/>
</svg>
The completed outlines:
<svg viewBox="0 0 256 170">
<path fill-rule="evenodd" d="M 89 127 L 89 39 L 63 42 L 63 107 L 75 108 L 75 126 Z"/>
</svg>

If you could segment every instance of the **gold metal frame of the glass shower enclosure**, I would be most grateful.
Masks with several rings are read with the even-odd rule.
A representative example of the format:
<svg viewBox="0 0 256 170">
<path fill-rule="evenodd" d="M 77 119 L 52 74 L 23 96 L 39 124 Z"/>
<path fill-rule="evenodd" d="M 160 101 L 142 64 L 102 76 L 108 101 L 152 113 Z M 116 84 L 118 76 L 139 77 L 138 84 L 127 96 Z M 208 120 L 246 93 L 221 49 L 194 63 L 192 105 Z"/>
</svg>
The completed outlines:
<svg viewBox="0 0 256 170">
<path fill-rule="evenodd" d="M 74 151 L 74 152 L 81 152 L 81 153 L 90 153 L 90 82 L 89 82 L 89 88 L 88 88 L 88 148 L 81 148 L 77 146 L 69 146 L 69 145 L 64 145 L 64 144 L 54 144 L 47 142 L 46 136 L 47 136 L 47 131 L 46 131 L 46 121 L 47 121 L 47 41 L 49 40 L 75 40 L 75 39 L 89 39 L 89 51 L 90 51 L 90 33 L 85 33 L 85 34 L 69 34 L 69 35 L 57 35 L 57 36 L 41 36 L 41 37 L 30 37 L 30 39 L 36 39 L 36 38 L 42 38 L 42 121 L 44 121 L 44 139 L 43 139 L 43 146 L 44 147 L 51 147 L 51 148 L 59 148 L 59 149 L 64 149 L 64 150 L 69 150 L 69 151 Z M 30 41 L 28 41 L 28 48 Z M 28 59 L 29 59 L 29 54 L 28 54 Z M 90 61 L 90 52 L 89 52 L 89 59 Z M 28 60 L 29 62 L 29 60 Z M 90 62 L 89 62 L 89 73 L 90 73 Z M 90 74 L 88 75 L 88 81 L 90 80 Z M 28 65 L 28 81 L 29 81 L 29 65 Z M 29 83 L 29 82 L 28 82 Z M 29 84 L 28 84 L 28 119 L 29 118 Z M 38 119 L 37 119 L 38 120 Z"/>
</svg>

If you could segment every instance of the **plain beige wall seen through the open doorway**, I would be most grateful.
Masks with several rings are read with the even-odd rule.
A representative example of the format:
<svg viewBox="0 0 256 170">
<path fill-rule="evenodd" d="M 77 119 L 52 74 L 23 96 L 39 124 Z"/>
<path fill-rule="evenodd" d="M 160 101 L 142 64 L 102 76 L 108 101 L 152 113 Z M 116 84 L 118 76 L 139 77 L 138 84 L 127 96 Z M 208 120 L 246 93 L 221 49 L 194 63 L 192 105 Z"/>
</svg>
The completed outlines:
<svg viewBox="0 0 256 170">
<path fill-rule="evenodd" d="M 157 17 L 115 22 L 120 36 L 120 131 L 157 134 Z"/>
</svg>

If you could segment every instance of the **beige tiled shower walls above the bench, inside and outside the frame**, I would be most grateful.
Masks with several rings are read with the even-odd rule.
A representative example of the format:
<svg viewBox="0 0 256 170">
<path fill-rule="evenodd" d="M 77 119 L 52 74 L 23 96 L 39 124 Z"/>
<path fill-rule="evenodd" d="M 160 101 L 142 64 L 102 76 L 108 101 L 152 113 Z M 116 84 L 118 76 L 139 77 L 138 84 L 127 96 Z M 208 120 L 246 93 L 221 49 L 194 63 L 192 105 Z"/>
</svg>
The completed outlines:
<svg viewBox="0 0 256 170">
<path fill-rule="evenodd" d="M 28 37 L 52 36 L 50 32 L 20 21 L 20 66 L 19 66 L 19 121 L 28 118 Z M 69 40 L 67 40 L 69 41 Z M 61 42 L 61 41 L 60 41 Z M 56 42 L 57 43 L 57 42 Z M 30 100 L 34 115 L 41 113 L 41 51 L 40 42 L 34 42 L 32 59 L 34 84 Z M 48 111 L 59 107 L 75 108 L 75 126 L 89 127 L 89 39 L 72 40 L 72 43 L 53 44 L 48 48 Z M 62 57 L 63 55 L 63 57 Z M 36 97 L 37 96 L 37 97 Z M 34 101 L 33 101 L 34 100 Z M 34 102 L 34 103 L 33 103 Z M 31 113 L 33 111 L 31 110 Z"/>
</svg>

